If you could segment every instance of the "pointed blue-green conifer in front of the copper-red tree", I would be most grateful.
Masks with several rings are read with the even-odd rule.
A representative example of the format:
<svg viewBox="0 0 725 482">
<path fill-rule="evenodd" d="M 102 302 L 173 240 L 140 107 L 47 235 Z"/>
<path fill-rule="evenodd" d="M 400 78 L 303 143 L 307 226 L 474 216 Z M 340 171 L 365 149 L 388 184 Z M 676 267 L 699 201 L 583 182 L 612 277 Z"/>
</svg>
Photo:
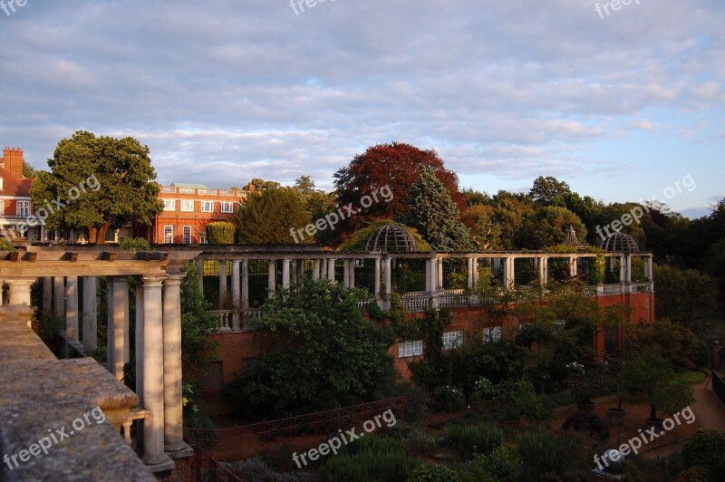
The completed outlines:
<svg viewBox="0 0 725 482">
<path fill-rule="evenodd" d="M 411 186 L 407 224 L 436 251 L 470 251 L 473 240 L 459 220 L 458 207 L 433 169 L 423 168 Z"/>
</svg>

